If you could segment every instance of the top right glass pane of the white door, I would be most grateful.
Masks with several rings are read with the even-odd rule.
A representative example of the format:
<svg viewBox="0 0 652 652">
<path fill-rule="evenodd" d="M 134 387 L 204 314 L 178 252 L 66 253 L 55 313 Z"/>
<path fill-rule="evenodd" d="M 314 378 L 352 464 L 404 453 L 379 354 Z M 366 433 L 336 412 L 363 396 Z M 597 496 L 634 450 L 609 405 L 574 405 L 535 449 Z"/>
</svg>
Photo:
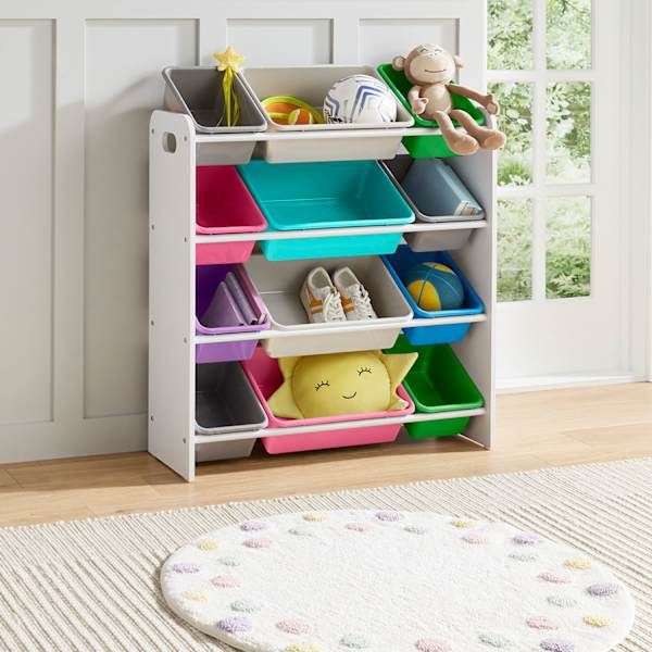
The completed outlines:
<svg viewBox="0 0 652 652">
<path fill-rule="evenodd" d="M 549 68 L 591 67 L 591 0 L 548 0 L 546 50 Z"/>
</svg>

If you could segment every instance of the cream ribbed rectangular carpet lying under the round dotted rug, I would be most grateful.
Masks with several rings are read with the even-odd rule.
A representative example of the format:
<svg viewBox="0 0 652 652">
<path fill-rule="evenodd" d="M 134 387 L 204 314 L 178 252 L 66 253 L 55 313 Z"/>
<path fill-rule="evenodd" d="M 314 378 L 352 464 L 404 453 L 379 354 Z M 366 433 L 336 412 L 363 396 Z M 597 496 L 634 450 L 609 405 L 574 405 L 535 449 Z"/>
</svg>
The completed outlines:
<svg viewBox="0 0 652 652">
<path fill-rule="evenodd" d="M 573 546 L 636 599 L 634 629 L 616 650 L 652 651 L 652 460 L 3 529 L 0 650 L 229 650 L 171 614 L 161 564 L 240 521 L 342 509 L 505 522 Z"/>
</svg>

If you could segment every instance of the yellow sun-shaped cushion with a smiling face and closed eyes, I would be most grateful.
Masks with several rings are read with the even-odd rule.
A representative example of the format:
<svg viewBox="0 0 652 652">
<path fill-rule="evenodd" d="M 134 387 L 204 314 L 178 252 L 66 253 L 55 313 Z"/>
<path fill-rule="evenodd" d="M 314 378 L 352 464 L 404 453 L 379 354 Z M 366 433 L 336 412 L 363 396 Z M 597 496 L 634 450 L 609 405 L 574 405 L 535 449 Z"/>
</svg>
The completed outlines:
<svg viewBox="0 0 652 652">
<path fill-rule="evenodd" d="M 269 409 L 284 418 L 402 410 L 406 403 L 396 390 L 415 360 L 416 353 L 380 351 L 281 358 L 284 383 Z"/>
</svg>

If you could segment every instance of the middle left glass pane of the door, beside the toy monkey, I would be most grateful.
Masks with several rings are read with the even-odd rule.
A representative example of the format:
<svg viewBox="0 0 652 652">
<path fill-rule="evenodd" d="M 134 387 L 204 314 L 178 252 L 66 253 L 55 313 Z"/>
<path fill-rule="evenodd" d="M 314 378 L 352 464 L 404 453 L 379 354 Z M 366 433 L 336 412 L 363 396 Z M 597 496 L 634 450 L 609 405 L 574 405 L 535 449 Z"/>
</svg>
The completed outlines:
<svg viewBox="0 0 652 652">
<path fill-rule="evenodd" d="M 501 105 L 498 116 L 507 142 L 499 153 L 500 186 L 532 183 L 532 84 L 492 84 Z"/>
</svg>

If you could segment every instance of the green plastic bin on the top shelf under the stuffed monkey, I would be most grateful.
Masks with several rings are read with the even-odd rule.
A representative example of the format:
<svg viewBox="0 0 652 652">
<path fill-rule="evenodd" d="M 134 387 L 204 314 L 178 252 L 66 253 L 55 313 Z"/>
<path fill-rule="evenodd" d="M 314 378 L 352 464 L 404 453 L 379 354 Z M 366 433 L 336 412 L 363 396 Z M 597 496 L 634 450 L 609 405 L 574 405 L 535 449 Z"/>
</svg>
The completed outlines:
<svg viewBox="0 0 652 652">
<path fill-rule="evenodd" d="M 381 63 L 377 70 L 385 83 L 391 88 L 397 98 L 399 98 L 401 104 L 403 104 L 403 106 L 410 111 L 410 114 L 414 116 L 415 127 L 438 128 L 437 123 L 434 120 L 425 120 L 412 111 L 410 102 L 408 101 L 408 92 L 412 88 L 412 83 L 405 77 L 403 71 L 394 71 L 393 67 L 391 67 L 391 63 Z M 455 109 L 462 109 L 466 111 L 466 113 L 468 113 L 478 123 L 478 125 L 485 124 L 484 113 L 468 98 L 463 98 L 462 96 L 454 93 L 451 95 L 453 98 L 453 106 Z M 456 121 L 453 121 L 453 124 L 459 126 Z M 402 142 L 413 159 L 441 159 L 444 156 L 457 155 L 449 149 L 448 145 L 443 140 L 443 137 L 440 135 L 405 136 Z"/>
</svg>

